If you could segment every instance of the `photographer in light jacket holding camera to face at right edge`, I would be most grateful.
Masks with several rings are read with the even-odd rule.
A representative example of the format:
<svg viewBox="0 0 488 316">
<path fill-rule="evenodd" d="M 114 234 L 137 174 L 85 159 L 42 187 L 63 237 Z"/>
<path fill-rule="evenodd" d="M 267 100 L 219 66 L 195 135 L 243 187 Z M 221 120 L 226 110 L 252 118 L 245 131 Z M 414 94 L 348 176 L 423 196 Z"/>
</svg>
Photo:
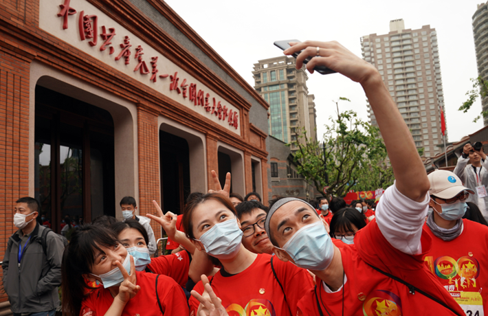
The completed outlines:
<svg viewBox="0 0 488 316">
<path fill-rule="evenodd" d="M 476 146 L 476 144 L 475 144 Z M 478 205 L 483 217 L 488 221 L 488 161 L 487 155 L 468 143 L 463 147 L 461 157 L 458 158 L 454 173 L 463 181 L 464 185 L 473 190 L 474 194 L 469 194 L 467 202 Z"/>
</svg>

